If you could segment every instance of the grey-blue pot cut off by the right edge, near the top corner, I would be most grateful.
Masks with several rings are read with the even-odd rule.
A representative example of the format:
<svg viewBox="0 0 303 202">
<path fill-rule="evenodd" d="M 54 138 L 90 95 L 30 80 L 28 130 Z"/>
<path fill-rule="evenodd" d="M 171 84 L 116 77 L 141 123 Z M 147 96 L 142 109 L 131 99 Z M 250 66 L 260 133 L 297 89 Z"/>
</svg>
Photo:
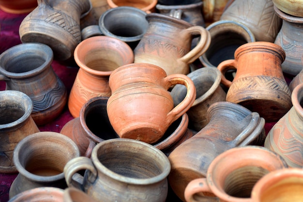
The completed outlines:
<svg viewBox="0 0 303 202">
<path fill-rule="evenodd" d="M 303 18 L 292 16 L 280 11 L 274 6 L 275 13 L 283 20 L 282 27 L 274 41 L 280 45 L 286 53 L 282 63 L 282 71 L 291 76 L 296 76 L 302 69 L 303 54 Z"/>
</svg>

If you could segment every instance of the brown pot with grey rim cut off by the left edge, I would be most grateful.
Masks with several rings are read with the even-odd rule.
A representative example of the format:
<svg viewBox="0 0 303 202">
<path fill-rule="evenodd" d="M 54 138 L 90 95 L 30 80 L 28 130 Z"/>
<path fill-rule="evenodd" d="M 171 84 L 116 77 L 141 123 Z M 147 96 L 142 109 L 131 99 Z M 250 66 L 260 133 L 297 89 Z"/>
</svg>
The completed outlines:
<svg viewBox="0 0 303 202">
<path fill-rule="evenodd" d="M 15 145 L 28 135 L 39 132 L 30 116 L 32 101 L 15 90 L 0 91 L 0 173 L 16 173 L 13 162 Z"/>
</svg>

